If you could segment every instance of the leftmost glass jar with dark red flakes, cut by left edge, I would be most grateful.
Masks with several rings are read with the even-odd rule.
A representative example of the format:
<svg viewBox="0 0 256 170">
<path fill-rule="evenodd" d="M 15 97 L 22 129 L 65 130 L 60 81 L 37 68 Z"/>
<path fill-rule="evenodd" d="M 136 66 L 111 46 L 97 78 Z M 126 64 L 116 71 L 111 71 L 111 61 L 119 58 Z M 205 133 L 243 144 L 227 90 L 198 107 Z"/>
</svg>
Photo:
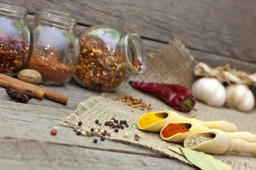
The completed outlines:
<svg viewBox="0 0 256 170">
<path fill-rule="evenodd" d="M 29 60 L 27 8 L 0 1 L 0 73 L 16 76 Z"/>
</svg>

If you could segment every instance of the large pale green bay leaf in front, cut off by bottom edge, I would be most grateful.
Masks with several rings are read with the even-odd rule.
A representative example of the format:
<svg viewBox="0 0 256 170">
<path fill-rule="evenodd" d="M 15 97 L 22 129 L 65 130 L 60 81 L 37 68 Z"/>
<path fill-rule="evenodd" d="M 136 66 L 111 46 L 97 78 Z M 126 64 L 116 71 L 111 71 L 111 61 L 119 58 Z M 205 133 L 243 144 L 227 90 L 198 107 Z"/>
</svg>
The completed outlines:
<svg viewBox="0 0 256 170">
<path fill-rule="evenodd" d="M 182 150 L 188 161 L 199 167 L 201 170 L 232 170 L 229 165 L 215 159 L 209 154 L 194 151 L 188 148 L 179 148 Z"/>
</svg>

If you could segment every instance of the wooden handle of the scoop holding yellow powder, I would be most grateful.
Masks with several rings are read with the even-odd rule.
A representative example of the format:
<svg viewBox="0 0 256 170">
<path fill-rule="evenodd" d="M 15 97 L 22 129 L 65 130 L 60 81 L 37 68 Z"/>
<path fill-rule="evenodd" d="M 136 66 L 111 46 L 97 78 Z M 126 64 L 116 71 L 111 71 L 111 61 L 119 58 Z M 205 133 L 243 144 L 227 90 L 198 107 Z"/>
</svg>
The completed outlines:
<svg viewBox="0 0 256 170">
<path fill-rule="evenodd" d="M 208 127 L 208 128 L 212 128 L 212 129 L 219 129 L 222 130 L 224 132 L 236 132 L 237 131 L 237 127 L 235 124 L 233 123 L 229 123 L 227 121 L 201 121 L 198 119 L 194 119 L 194 118 L 188 118 L 187 120 L 192 120 L 192 121 L 196 121 L 201 123 L 202 125 Z"/>
</svg>

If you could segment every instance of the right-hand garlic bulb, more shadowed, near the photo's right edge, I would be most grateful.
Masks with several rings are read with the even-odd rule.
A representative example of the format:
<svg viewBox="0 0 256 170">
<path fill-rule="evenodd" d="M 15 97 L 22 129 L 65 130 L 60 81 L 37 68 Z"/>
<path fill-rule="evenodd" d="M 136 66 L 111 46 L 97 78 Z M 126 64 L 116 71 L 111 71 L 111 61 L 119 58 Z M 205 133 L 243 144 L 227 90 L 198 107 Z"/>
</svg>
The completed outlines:
<svg viewBox="0 0 256 170">
<path fill-rule="evenodd" d="M 240 111 L 248 112 L 254 108 L 255 99 L 247 85 L 229 85 L 226 87 L 225 105 Z"/>
</svg>

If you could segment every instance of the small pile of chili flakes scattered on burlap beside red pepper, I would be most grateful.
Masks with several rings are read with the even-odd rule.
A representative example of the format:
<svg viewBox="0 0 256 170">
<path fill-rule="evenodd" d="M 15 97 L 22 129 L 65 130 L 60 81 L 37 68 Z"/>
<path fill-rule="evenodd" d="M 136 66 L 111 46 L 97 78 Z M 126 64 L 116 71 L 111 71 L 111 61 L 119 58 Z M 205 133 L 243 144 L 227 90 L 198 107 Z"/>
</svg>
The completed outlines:
<svg viewBox="0 0 256 170">
<path fill-rule="evenodd" d="M 117 102 L 125 102 L 126 104 L 128 104 L 129 106 L 131 106 L 132 108 L 138 108 L 140 110 L 152 110 L 153 108 L 151 107 L 151 104 L 146 104 L 145 102 L 142 102 L 142 100 L 138 100 L 135 97 L 132 96 L 128 96 L 125 95 L 124 97 L 119 96 L 119 98 L 115 98 L 113 99 L 114 101 Z"/>
</svg>

